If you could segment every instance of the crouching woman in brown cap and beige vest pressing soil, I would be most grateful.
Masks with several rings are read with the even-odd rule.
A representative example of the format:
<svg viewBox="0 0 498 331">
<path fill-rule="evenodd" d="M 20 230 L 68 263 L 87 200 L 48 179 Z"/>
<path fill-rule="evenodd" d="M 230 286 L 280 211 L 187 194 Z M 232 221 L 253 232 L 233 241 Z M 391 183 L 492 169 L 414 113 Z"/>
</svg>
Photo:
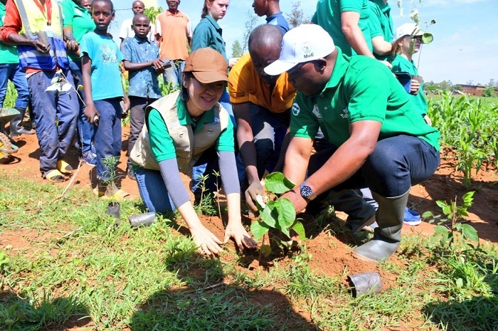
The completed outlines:
<svg viewBox="0 0 498 331">
<path fill-rule="evenodd" d="M 130 152 L 144 204 L 149 211 L 178 209 L 199 253 L 218 254 L 234 238 L 240 249 L 255 248 L 240 218 L 240 186 L 235 167 L 233 124 L 218 100 L 228 82 L 225 58 L 200 48 L 187 58 L 180 91 L 147 106 L 145 126 Z M 228 204 L 224 241 L 201 224 L 180 172 L 191 172 L 203 152 L 215 147 Z M 211 149 L 212 150 L 212 149 Z"/>
</svg>

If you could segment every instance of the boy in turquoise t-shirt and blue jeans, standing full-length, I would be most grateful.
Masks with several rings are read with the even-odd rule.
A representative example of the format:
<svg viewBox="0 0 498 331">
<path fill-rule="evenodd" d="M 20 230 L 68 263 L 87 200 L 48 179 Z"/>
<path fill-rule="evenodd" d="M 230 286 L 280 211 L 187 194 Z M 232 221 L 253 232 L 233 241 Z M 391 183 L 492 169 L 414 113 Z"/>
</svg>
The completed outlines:
<svg viewBox="0 0 498 331">
<path fill-rule="evenodd" d="M 122 54 L 112 38 L 107 36 L 107 28 L 115 17 L 110 0 L 94 0 L 91 7 L 92 19 L 96 28 L 85 34 L 80 42 L 83 90 L 85 90 L 85 117 L 95 125 L 95 152 L 97 154 L 97 178 L 99 196 L 124 197 L 114 182 L 109 182 L 115 169 L 104 162 L 106 157 L 118 157 L 121 152 L 120 102 L 124 99 L 124 109 L 129 100 L 124 94 L 119 63 Z"/>
</svg>

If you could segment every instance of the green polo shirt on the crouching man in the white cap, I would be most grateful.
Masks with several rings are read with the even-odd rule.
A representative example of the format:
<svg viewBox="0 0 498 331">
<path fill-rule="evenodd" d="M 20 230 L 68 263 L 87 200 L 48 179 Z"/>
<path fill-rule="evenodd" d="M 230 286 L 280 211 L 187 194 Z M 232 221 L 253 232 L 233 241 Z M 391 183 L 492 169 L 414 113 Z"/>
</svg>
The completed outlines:
<svg viewBox="0 0 498 331">
<path fill-rule="evenodd" d="M 290 133 L 293 137 L 314 139 L 321 128 L 325 138 L 339 147 L 349 139 L 349 125 L 361 120 L 382 123 L 378 140 L 412 135 L 439 149 L 438 130 L 420 117 L 410 96 L 386 65 L 366 56 L 344 56 L 339 50 L 322 93 L 297 93 Z"/>
</svg>

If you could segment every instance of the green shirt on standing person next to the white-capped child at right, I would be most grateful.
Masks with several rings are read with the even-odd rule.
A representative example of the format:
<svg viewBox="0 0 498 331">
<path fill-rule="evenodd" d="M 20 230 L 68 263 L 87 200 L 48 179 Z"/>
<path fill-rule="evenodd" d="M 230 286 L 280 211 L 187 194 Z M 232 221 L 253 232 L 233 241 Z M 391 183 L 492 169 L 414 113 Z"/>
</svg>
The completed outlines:
<svg viewBox="0 0 498 331">
<path fill-rule="evenodd" d="M 371 38 L 383 36 L 384 40 L 388 43 L 393 42 L 393 18 L 391 17 L 391 6 L 384 4 L 383 0 L 370 0 L 370 19 L 369 25 L 371 30 Z M 390 58 L 387 56 L 378 56 L 376 53 L 373 55 L 381 61 L 386 61 Z"/>
</svg>

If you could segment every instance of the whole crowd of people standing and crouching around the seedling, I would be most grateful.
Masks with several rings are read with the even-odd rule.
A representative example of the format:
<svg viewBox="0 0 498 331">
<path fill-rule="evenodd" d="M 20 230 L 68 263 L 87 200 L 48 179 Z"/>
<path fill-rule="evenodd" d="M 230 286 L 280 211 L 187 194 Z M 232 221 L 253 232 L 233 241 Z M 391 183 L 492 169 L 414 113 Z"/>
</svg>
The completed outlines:
<svg viewBox="0 0 498 331">
<path fill-rule="evenodd" d="M 439 133 L 412 61 L 423 31 L 412 23 L 395 31 L 387 0 L 319 0 L 312 23 L 292 29 L 278 0 L 254 0 L 267 23 L 250 32 L 240 58 L 227 56 L 218 24 L 229 0 L 205 0 L 194 31 L 180 0 L 166 1 L 155 24 L 134 1 L 120 45 L 108 33 L 110 0 L 0 1 L 0 105 L 10 79 L 21 114 L 9 133 L 33 133 L 21 126 L 29 103 L 44 179 L 68 179 L 76 141 L 80 158 L 96 166 L 95 193 L 127 196 L 105 160 L 120 155 L 129 110 L 127 176 L 149 211 L 179 211 L 201 253 L 220 253 L 230 238 L 256 247 L 240 201 L 257 211 L 261 181 L 273 171 L 296 184 L 282 198 L 297 213 L 316 216 L 331 204 L 348 214 L 351 231 L 373 229 L 357 258 L 391 257 L 403 223 L 420 223 L 408 194 L 438 168 Z M 161 76 L 172 93 L 161 95 Z M 72 88 L 47 90 L 54 79 Z M 201 223 L 180 173 L 191 177 L 194 204 L 218 189 L 219 174 L 223 241 Z"/>
</svg>

